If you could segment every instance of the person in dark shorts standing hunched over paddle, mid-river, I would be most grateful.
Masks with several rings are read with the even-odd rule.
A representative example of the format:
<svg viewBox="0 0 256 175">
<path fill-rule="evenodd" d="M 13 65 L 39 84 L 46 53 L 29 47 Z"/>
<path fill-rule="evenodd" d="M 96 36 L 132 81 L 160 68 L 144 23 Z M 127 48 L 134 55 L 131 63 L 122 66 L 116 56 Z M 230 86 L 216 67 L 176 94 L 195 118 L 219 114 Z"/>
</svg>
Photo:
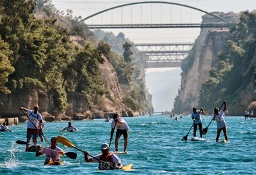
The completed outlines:
<svg viewBox="0 0 256 175">
<path fill-rule="evenodd" d="M 123 151 L 127 153 L 127 145 L 128 145 L 128 136 L 129 136 L 129 126 L 127 122 L 121 118 L 118 114 L 113 114 L 113 121 L 111 123 L 111 133 L 110 133 L 110 141 L 113 139 L 113 133 L 115 131 L 115 127 L 117 127 L 116 139 L 115 139 L 115 151 L 119 151 L 119 139 L 121 135 L 123 135 L 124 143 L 123 143 Z"/>
</svg>

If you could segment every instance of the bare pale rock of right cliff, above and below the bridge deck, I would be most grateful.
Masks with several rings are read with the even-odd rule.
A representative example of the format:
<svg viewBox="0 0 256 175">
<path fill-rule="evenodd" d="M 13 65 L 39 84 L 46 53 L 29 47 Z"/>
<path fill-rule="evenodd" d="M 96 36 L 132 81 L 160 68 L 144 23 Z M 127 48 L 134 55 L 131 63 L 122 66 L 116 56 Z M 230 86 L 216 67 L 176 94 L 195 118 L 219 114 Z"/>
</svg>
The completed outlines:
<svg viewBox="0 0 256 175">
<path fill-rule="evenodd" d="M 232 12 L 212 13 L 230 22 L 237 22 L 240 15 L 239 13 Z M 203 15 L 203 23 L 211 22 L 222 22 L 222 20 L 211 15 Z M 176 98 L 179 106 L 174 108 L 174 112 L 191 111 L 193 106 L 198 106 L 201 85 L 210 78 L 210 69 L 217 66 L 218 52 L 222 50 L 229 36 L 228 28 L 201 29 L 191 69 L 189 69 L 187 75 L 183 74 L 181 77 L 181 90 L 179 96 Z"/>
</svg>

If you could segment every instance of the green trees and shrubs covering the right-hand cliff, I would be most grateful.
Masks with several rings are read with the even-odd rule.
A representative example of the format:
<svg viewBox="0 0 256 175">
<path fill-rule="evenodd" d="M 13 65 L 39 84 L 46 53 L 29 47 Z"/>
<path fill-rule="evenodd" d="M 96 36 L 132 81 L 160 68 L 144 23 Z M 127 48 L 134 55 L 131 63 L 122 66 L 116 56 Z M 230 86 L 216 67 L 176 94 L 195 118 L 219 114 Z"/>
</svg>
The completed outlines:
<svg viewBox="0 0 256 175">
<path fill-rule="evenodd" d="M 240 20 L 230 28 L 230 40 L 220 52 L 218 66 L 211 69 L 210 79 L 201 86 L 199 106 L 211 109 L 222 100 L 237 106 L 247 90 L 251 91 L 248 106 L 256 100 L 256 11 L 245 11 Z"/>
</svg>

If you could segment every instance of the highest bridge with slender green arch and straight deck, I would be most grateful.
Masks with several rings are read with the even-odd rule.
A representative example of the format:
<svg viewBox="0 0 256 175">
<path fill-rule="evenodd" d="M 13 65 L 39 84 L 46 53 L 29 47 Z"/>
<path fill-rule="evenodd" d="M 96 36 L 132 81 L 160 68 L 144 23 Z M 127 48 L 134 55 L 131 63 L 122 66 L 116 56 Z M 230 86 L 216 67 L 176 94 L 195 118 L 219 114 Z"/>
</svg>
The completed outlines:
<svg viewBox="0 0 256 175">
<path fill-rule="evenodd" d="M 151 13 L 150 13 L 150 18 L 151 18 L 151 21 L 150 23 L 145 23 L 143 22 L 143 4 L 160 4 L 160 5 L 178 5 L 178 6 L 181 6 L 181 7 L 186 7 L 186 8 L 189 8 L 189 9 L 194 9 L 195 11 L 199 11 L 199 12 L 203 12 L 203 13 L 206 13 L 212 17 L 215 17 L 219 20 L 218 23 L 207 23 L 207 24 L 201 24 L 200 23 L 194 23 L 194 22 L 183 22 L 181 20 L 181 22 L 177 23 L 177 22 L 162 22 L 162 6 L 161 6 L 161 17 L 160 17 L 160 20 L 158 20 L 158 22 L 154 22 L 152 23 L 152 17 L 153 17 L 153 13 L 152 13 L 152 8 L 151 8 Z M 138 24 L 134 24 L 133 22 L 133 9 L 132 7 L 134 5 L 141 5 L 141 9 L 140 9 L 140 17 L 139 16 L 136 16 L 135 17 L 135 20 L 137 20 L 137 18 L 141 18 L 141 22 Z M 128 22 L 127 24 L 127 20 L 125 20 L 125 23 L 123 22 L 123 7 L 127 7 L 127 6 L 130 6 L 131 7 L 131 20 L 130 22 Z M 224 18 L 214 14 L 214 13 L 210 13 L 210 12 L 207 12 L 207 11 L 204 11 L 202 9 L 198 9 L 196 7 L 192 7 L 192 6 L 189 6 L 189 5 L 183 5 L 181 3 L 171 3 L 171 2 L 166 2 L 166 1 L 143 1 L 143 2 L 137 2 L 137 3 L 127 3 L 127 4 L 123 4 L 123 5 L 117 5 L 115 7 L 110 7 L 108 9 L 104 9 L 102 11 L 99 11 L 98 13 L 94 13 L 92 15 L 89 15 L 88 17 L 85 17 L 84 19 L 82 19 L 80 22 L 84 22 L 86 20 L 89 20 L 89 19 L 93 19 L 93 17 L 96 17 L 97 15 L 100 15 L 100 14 L 103 14 L 103 13 L 106 13 L 107 11 L 113 11 L 114 9 L 121 9 L 121 15 L 115 15 L 115 17 L 118 17 L 120 19 L 121 17 L 121 22 L 117 23 L 115 22 L 115 24 L 113 24 L 113 12 L 112 12 L 112 15 L 111 15 L 111 21 L 108 22 L 108 24 L 89 24 L 89 22 L 86 22 L 86 24 L 88 25 L 89 28 L 91 29 L 96 29 L 96 28 L 227 28 L 229 27 L 230 25 L 230 22 L 228 20 L 225 20 Z M 125 15 L 127 15 L 127 12 L 125 13 Z M 176 13 L 174 15 L 177 15 Z M 154 15 L 156 16 L 156 15 Z M 144 17 L 145 18 L 145 17 Z M 147 18 L 148 18 L 148 15 L 147 15 Z M 102 16 L 102 23 L 106 22 L 107 20 L 103 20 L 103 16 Z M 120 20 L 119 20 L 120 21 Z M 172 21 L 172 20 L 171 20 Z"/>
</svg>

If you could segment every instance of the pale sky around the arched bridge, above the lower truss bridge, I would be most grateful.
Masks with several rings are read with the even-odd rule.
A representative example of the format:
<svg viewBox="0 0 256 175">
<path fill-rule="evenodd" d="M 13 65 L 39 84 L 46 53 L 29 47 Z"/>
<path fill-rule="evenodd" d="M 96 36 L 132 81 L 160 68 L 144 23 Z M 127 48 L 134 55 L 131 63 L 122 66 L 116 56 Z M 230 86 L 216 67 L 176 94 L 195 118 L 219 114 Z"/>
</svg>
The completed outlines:
<svg viewBox="0 0 256 175">
<path fill-rule="evenodd" d="M 52 0 L 52 3 L 60 11 L 71 9 L 74 16 L 81 16 L 82 19 L 102 11 L 104 9 L 123 5 L 126 3 L 141 2 L 140 1 L 123 1 L 123 0 Z M 166 1 L 166 0 L 165 0 Z M 204 11 L 223 11 L 223 12 L 240 12 L 256 9 L 255 0 L 177 0 L 166 1 L 172 3 L 181 3 L 202 9 Z M 142 10 L 141 10 L 142 9 Z M 123 11 L 123 12 L 121 12 Z M 132 12 L 131 12 L 132 11 Z M 141 15 L 142 11 L 142 15 Z M 125 15 L 126 14 L 126 15 Z M 92 20 L 87 20 L 86 23 L 102 24 L 103 22 L 113 23 L 129 23 L 133 22 L 198 22 L 201 20 L 201 13 L 199 11 L 191 10 L 186 7 L 178 5 L 160 5 L 160 4 L 144 4 L 133 5 L 115 9 L 97 15 Z M 122 17 L 121 17 L 122 16 Z M 102 22 L 103 21 L 103 22 Z M 149 42 L 194 42 L 195 38 L 199 35 L 198 28 L 189 29 L 108 29 L 114 34 L 123 32 L 126 38 L 129 38 L 135 43 L 149 43 Z"/>
</svg>

